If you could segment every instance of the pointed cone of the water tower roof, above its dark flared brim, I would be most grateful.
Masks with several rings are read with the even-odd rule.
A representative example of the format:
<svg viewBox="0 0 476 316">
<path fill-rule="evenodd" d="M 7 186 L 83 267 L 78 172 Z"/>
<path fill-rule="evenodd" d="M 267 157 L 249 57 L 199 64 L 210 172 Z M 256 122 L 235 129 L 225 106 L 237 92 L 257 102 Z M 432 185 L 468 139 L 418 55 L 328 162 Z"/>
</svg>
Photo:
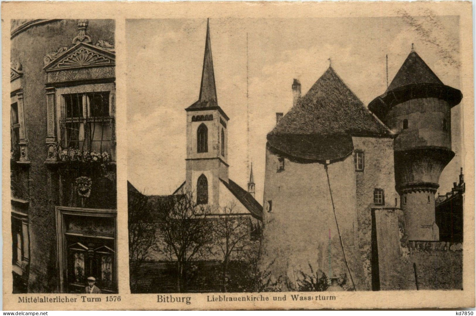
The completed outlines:
<svg viewBox="0 0 476 316">
<path fill-rule="evenodd" d="M 397 89 L 408 84 L 429 83 L 442 85 L 443 82 L 436 76 L 433 70 L 426 65 L 426 62 L 421 59 L 416 51 L 412 50 L 407 59 L 403 62 L 402 67 L 395 75 L 387 91 Z"/>
</svg>

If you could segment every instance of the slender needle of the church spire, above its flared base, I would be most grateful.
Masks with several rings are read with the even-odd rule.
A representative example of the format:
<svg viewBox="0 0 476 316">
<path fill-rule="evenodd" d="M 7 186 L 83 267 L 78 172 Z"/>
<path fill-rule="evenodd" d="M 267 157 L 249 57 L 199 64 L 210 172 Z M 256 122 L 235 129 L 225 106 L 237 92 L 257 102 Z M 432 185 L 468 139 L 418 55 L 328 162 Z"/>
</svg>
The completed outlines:
<svg viewBox="0 0 476 316">
<path fill-rule="evenodd" d="M 215 74 L 213 73 L 213 60 L 211 57 L 209 19 L 207 19 L 207 38 L 205 39 L 205 55 L 203 56 L 202 81 L 198 101 L 217 104 L 217 88 L 215 86 Z"/>
</svg>

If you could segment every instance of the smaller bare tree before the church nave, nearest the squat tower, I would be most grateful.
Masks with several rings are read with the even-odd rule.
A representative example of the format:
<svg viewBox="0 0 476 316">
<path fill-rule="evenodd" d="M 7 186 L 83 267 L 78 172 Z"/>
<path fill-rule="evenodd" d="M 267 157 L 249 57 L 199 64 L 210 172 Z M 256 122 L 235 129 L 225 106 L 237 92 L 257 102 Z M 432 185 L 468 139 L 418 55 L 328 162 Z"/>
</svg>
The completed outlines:
<svg viewBox="0 0 476 316">
<path fill-rule="evenodd" d="M 221 214 L 214 218 L 213 239 L 214 252 L 222 259 L 222 290 L 227 292 L 230 261 L 248 265 L 248 259 L 254 255 L 257 241 L 252 237 L 252 220 L 249 215 L 238 214 L 236 204 L 229 203 L 222 208 Z M 245 259 L 246 258 L 246 259 Z M 243 260 L 245 259 L 245 260 Z"/>
</svg>

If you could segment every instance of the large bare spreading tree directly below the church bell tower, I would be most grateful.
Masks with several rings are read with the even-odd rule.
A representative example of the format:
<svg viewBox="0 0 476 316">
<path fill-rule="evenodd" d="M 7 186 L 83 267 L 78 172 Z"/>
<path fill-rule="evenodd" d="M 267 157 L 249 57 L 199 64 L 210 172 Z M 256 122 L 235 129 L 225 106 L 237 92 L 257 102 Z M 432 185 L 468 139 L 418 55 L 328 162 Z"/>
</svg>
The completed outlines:
<svg viewBox="0 0 476 316">
<path fill-rule="evenodd" d="M 185 289 L 189 263 L 206 255 L 213 241 L 209 207 L 197 205 L 193 194 L 169 196 L 157 205 L 158 240 L 154 249 L 177 264 L 177 291 Z"/>
</svg>

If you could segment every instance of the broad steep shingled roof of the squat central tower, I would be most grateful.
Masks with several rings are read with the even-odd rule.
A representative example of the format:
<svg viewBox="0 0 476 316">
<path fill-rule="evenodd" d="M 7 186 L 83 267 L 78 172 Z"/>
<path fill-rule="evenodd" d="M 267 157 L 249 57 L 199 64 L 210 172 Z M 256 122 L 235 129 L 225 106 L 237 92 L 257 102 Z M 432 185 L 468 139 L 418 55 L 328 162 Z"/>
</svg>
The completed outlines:
<svg viewBox="0 0 476 316">
<path fill-rule="evenodd" d="M 268 133 L 268 144 L 295 158 L 335 160 L 352 152 L 352 136 L 393 135 L 329 67 Z"/>
</svg>

